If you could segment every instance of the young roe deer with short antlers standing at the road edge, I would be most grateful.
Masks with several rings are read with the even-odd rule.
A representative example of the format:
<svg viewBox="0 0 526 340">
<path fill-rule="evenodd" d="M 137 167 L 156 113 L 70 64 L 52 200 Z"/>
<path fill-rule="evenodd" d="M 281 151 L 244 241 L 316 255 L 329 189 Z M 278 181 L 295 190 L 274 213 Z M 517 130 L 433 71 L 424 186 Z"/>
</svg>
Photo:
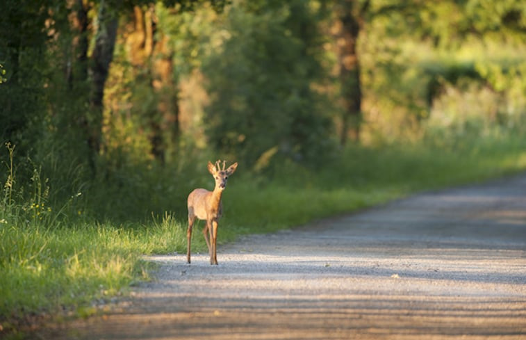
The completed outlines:
<svg viewBox="0 0 526 340">
<path fill-rule="evenodd" d="M 215 241 L 217 240 L 217 223 L 221 218 L 223 212 L 223 205 L 221 203 L 221 195 L 224 188 L 227 187 L 227 179 L 238 168 L 238 163 L 233 163 L 227 170 L 224 170 L 226 161 L 223 161 L 223 168 L 220 168 L 220 161 L 215 162 L 215 165 L 208 162 L 208 171 L 215 179 L 215 188 L 213 191 L 206 189 L 195 189 L 188 195 L 188 245 L 186 248 L 186 259 L 190 263 L 190 242 L 192 239 L 192 227 L 195 218 L 205 220 L 206 223 L 203 229 L 204 241 L 208 245 L 208 253 L 210 254 L 210 264 L 217 264 L 217 256 L 215 254 Z M 208 235 L 207 235 L 208 232 Z"/>
</svg>

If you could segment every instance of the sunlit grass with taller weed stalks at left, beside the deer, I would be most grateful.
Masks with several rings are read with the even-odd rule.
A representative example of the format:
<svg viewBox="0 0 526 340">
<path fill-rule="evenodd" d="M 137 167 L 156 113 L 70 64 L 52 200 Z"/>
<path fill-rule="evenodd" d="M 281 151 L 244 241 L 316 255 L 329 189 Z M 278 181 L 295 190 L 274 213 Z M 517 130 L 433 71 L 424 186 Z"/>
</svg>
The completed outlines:
<svg viewBox="0 0 526 340">
<path fill-rule="evenodd" d="M 135 280 L 146 280 L 149 264 L 142 254 L 182 250 L 186 232 L 173 216 L 165 213 L 149 225 L 99 224 L 83 209 L 90 200 L 82 201 L 81 193 L 62 206 L 50 202 L 53 193 L 40 168 L 33 170 L 31 184 L 19 184 L 15 147 L 7 149 L 0 201 L 1 322 L 33 312 L 80 311 L 123 293 Z"/>
</svg>

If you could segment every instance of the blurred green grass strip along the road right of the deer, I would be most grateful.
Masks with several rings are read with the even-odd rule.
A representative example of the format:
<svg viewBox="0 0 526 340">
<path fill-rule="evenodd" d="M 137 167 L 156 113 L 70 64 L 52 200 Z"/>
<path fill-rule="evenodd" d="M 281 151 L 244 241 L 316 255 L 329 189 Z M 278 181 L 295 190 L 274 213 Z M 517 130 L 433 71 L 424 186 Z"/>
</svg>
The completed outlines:
<svg viewBox="0 0 526 340">
<path fill-rule="evenodd" d="M 224 193 L 224 223 L 241 231 L 273 231 L 525 168 L 526 141 L 520 136 L 466 145 L 347 147 L 318 170 L 288 164 L 272 180 L 232 179 Z"/>
</svg>

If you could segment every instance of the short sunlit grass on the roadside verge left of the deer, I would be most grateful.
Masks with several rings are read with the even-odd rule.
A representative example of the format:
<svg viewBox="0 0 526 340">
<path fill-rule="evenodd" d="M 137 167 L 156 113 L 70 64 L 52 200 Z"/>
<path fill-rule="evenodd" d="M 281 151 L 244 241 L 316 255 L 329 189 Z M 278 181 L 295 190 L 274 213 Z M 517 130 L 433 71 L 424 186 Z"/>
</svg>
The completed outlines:
<svg viewBox="0 0 526 340">
<path fill-rule="evenodd" d="M 94 302 L 149 280 L 145 254 L 165 252 L 186 252 L 186 225 L 168 213 L 140 225 L 0 223 L 0 322 L 6 328 L 10 318 L 34 312 L 94 312 Z"/>
</svg>

